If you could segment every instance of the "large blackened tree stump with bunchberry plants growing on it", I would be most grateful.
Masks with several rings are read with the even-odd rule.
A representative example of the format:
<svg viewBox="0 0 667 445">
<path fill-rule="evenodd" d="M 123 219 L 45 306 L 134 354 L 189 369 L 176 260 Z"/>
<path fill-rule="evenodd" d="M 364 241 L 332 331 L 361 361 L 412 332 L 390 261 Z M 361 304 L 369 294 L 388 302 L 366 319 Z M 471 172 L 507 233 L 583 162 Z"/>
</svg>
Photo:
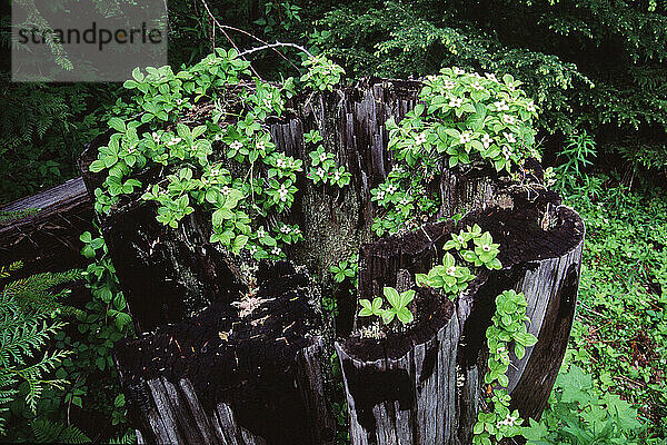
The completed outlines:
<svg viewBox="0 0 667 445">
<path fill-rule="evenodd" d="M 583 222 L 544 187 L 518 186 L 484 168 L 441 167 L 429 187 L 440 195 L 438 217 L 465 214 L 458 225 L 445 220 L 378 240 L 370 189 L 392 166 L 385 122 L 412 109 L 420 87 L 362 80 L 296 97 L 290 113 L 270 123 L 278 150 L 305 161 L 302 135 L 318 129 L 327 151 L 352 175 L 340 191 L 303 178 L 297 184 L 286 222 L 299 224 L 306 240 L 287 251 L 290 264 L 249 274 L 251 265 L 208 243 L 207 217 L 195 212 L 171 229 L 138 197 L 101 218 L 141 333 L 115 353 L 141 441 L 334 443 L 329 358 L 337 350 L 354 444 L 466 444 L 485 389 L 484 333 L 494 298 L 509 288 L 526 293 L 530 330 L 539 338 L 514 363 L 514 403 L 524 415 L 539 416 L 571 327 Z M 100 145 L 103 139 L 91 144 L 81 162 L 90 192 L 100 180 L 87 164 Z M 539 166 L 535 170 L 539 175 Z M 339 300 L 337 319 L 321 314 L 320 298 L 335 291 L 332 264 L 360 254 L 364 298 L 387 285 L 409 287 L 414 274 L 441 258 L 449 234 L 474 222 L 501 243 L 504 268 L 480 274 L 456 305 L 420 290 L 416 323 L 385 339 L 351 333 L 358 325 L 354 297 Z M 251 298 L 263 303 L 242 313 Z"/>
</svg>

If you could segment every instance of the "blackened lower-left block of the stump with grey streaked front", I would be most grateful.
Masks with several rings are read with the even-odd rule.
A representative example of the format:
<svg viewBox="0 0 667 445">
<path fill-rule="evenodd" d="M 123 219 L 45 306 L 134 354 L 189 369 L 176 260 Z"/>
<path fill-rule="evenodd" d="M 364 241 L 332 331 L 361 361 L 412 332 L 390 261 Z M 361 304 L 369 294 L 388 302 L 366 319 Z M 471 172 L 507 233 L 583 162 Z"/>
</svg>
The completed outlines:
<svg viewBox="0 0 667 445">
<path fill-rule="evenodd" d="M 263 266 L 262 266 L 263 267 Z M 321 315 L 303 271 L 259 273 L 252 306 L 225 303 L 116 348 L 133 418 L 149 443 L 320 444 L 334 439 L 325 399 Z M 251 310 L 252 309 L 252 310 Z M 250 313 L 251 310 L 251 313 Z"/>
</svg>

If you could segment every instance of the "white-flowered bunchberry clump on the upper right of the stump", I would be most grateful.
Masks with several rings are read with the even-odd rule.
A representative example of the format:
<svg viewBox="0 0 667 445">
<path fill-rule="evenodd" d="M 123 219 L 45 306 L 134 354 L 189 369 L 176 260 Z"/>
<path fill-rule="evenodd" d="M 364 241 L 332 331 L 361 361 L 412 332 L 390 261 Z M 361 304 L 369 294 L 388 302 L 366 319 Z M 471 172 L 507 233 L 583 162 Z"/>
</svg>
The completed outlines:
<svg viewBox="0 0 667 445">
<path fill-rule="evenodd" d="M 445 168 L 489 165 L 510 172 L 526 158 L 539 158 L 532 129 L 537 109 L 511 76 L 498 80 L 444 68 L 424 83 L 420 102 L 400 122 L 387 121 L 396 168 L 371 190 L 382 209 L 372 227 L 379 236 L 415 228 L 435 215 L 440 198 L 426 185 Z"/>
</svg>

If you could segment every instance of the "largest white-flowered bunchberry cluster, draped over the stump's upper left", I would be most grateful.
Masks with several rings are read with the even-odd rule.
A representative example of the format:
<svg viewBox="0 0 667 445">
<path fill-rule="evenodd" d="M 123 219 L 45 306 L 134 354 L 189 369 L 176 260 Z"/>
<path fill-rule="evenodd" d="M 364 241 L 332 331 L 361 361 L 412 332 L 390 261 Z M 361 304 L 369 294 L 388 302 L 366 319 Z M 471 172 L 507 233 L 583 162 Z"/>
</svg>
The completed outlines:
<svg viewBox="0 0 667 445">
<path fill-rule="evenodd" d="M 311 70 L 302 81 L 318 90 L 331 90 L 342 75 L 323 57 L 306 66 Z M 158 221 L 170 227 L 195 211 L 209 215 L 210 241 L 233 254 L 280 259 L 287 245 L 303 239 L 298 227 L 280 220 L 293 204 L 303 165 L 276 149 L 266 125 L 285 111 L 293 79 L 276 86 L 252 78 L 236 50 L 219 49 L 176 73 L 170 67 L 135 70 L 125 87 L 132 101 L 123 118 L 109 120 L 116 132 L 90 165 L 107 174 L 96 190 L 97 211 L 142 190 L 141 199 L 156 202 Z M 192 119 L 196 107 L 206 111 Z M 306 139 L 317 144 L 321 137 L 310 132 Z M 226 159 L 213 159 L 213 147 Z M 350 175 L 332 158 L 318 155 L 316 167 L 326 170 L 320 180 L 344 187 Z M 139 176 L 150 178 L 151 171 L 165 174 L 142 184 Z"/>
</svg>

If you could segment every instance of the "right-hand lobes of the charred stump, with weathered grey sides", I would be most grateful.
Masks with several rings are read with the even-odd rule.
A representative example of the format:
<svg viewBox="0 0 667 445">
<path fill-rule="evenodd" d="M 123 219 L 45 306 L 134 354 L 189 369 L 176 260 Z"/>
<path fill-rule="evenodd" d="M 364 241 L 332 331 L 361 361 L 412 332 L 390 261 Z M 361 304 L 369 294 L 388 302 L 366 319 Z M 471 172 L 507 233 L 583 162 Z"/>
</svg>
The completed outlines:
<svg viewBox="0 0 667 445">
<path fill-rule="evenodd" d="M 511 209 L 476 210 L 456 228 L 451 222 L 429 225 L 361 249 L 359 294 L 366 298 L 380 295 L 384 286 L 400 285 L 406 269 L 426 273 L 429 260 L 441 258 L 452 229 L 475 222 L 500 241 L 504 268 L 480 274 L 456 309 L 445 297 L 436 307 L 418 301 L 416 323 L 404 334 L 380 340 L 356 334 L 336 344 L 354 444 L 469 443 L 485 389 L 485 332 L 495 297 L 509 288 L 526 295 L 529 332 L 539 342 L 522 359 L 514 357 L 508 389 L 524 416 L 539 417 L 571 328 L 584 225 L 571 209 L 557 207 L 550 192 L 531 201 L 517 192 L 507 198 Z M 545 217 L 552 221 L 542 228 Z"/>
</svg>

